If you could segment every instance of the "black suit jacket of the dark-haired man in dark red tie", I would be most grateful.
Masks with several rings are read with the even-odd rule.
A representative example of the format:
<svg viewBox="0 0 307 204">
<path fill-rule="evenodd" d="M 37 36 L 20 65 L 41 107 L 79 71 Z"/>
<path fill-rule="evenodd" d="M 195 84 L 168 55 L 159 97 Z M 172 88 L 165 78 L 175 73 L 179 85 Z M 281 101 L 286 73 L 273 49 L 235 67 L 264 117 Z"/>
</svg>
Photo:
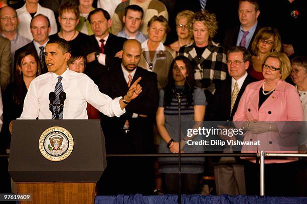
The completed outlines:
<svg viewBox="0 0 307 204">
<path fill-rule="evenodd" d="M 118 51 L 122 49 L 123 43 L 126 38 L 118 37 L 109 33 L 109 37 L 104 45 L 104 53 L 108 56 L 114 56 Z M 95 35 L 89 36 L 88 52 L 86 54 L 99 51 L 99 45 Z M 97 60 L 87 63 L 85 73 L 93 79 L 96 84 L 99 84 L 102 73 L 110 69 L 110 66 L 100 64 Z"/>
</svg>

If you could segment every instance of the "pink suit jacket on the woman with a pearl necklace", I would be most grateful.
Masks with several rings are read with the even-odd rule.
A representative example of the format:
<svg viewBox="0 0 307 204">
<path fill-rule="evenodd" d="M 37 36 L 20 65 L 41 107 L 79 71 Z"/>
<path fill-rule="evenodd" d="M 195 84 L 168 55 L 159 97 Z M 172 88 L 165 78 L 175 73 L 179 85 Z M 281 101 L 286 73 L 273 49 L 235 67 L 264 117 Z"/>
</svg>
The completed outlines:
<svg viewBox="0 0 307 204">
<path fill-rule="evenodd" d="M 243 145 L 241 152 L 257 152 L 259 149 L 264 149 L 266 152 L 286 152 L 286 150 L 292 150 L 293 152 L 293 147 L 289 146 L 289 144 L 295 143 L 296 138 L 293 139 L 291 135 L 296 133 L 300 127 L 300 123 L 296 125 L 296 122 L 286 123 L 285 121 L 302 120 L 302 107 L 296 88 L 284 80 L 279 80 L 275 91 L 258 108 L 259 90 L 263 81 L 260 80 L 247 85 L 241 96 L 233 120 L 237 128 L 241 128 L 244 121 L 257 120 L 271 121 L 273 123 L 279 121 L 276 122 L 278 132 L 267 131 L 260 134 L 253 134 L 248 131 L 243 137 L 244 141 L 259 140 L 261 146 Z M 285 161 L 287 160 L 265 159 L 265 163 Z"/>
</svg>

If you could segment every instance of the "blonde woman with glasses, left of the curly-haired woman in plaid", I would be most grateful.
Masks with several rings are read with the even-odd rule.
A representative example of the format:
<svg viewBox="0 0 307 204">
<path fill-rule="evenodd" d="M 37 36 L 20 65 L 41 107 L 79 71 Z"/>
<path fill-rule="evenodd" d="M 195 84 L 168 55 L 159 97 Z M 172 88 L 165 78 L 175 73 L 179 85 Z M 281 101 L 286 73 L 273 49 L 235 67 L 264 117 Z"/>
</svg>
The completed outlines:
<svg viewBox="0 0 307 204">
<path fill-rule="evenodd" d="M 194 12 L 191 10 L 184 10 L 176 16 L 176 30 L 178 40 L 170 44 L 170 47 L 175 51 L 179 51 L 179 48 L 193 42 L 191 21 L 194 17 Z"/>
</svg>

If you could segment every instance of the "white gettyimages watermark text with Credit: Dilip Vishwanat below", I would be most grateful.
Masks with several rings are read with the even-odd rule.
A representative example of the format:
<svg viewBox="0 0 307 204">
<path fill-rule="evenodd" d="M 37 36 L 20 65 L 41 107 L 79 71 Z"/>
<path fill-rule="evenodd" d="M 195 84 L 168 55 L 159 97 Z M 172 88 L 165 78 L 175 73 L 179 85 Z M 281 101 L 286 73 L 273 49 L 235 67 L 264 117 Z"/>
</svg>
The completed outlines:
<svg viewBox="0 0 307 204">
<path fill-rule="evenodd" d="M 186 140 L 186 144 L 188 145 L 260 145 L 260 141 L 242 141 L 242 139 L 238 139 L 239 137 L 242 138 L 244 134 L 244 130 L 242 128 L 205 128 L 205 127 L 198 127 L 198 128 L 189 128 L 187 129 L 187 136 L 193 137 L 195 135 L 205 136 L 207 139 L 196 139 L 193 140 L 188 139 Z M 209 138 L 212 137 L 212 138 Z M 214 138 L 213 138 L 214 137 Z M 218 139 L 221 138 L 221 139 Z"/>
</svg>

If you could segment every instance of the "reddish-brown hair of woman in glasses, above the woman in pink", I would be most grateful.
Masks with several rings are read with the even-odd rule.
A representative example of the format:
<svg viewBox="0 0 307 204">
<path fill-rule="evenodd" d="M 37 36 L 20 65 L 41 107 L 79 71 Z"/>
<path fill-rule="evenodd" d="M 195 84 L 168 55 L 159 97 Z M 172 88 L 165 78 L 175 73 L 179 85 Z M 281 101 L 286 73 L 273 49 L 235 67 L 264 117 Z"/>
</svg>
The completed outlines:
<svg viewBox="0 0 307 204">
<path fill-rule="evenodd" d="M 251 50 L 253 52 L 254 55 L 258 55 L 259 49 L 258 49 L 258 43 L 260 39 L 268 39 L 270 37 L 274 38 L 274 43 L 272 46 L 272 50 L 271 51 L 277 51 L 280 52 L 281 51 L 281 38 L 280 38 L 280 34 L 278 32 L 277 29 L 272 28 L 272 27 L 262 27 L 261 29 L 259 29 L 259 31 L 257 32 L 252 45 L 251 45 Z"/>
</svg>

